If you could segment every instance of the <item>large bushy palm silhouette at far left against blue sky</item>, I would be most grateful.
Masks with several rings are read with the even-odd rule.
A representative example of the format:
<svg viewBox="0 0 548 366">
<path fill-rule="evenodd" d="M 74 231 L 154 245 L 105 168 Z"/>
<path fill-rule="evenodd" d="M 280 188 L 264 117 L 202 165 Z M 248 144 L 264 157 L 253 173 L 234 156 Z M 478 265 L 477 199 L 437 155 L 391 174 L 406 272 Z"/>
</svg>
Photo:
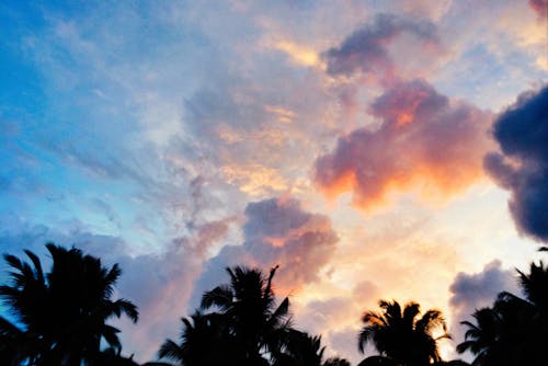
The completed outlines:
<svg viewBox="0 0 548 366">
<path fill-rule="evenodd" d="M 11 340 L 10 352 L 31 365 L 92 365 L 101 340 L 121 348 L 119 331 L 106 321 L 124 313 L 136 322 L 137 308 L 111 299 L 121 275 L 117 264 L 106 268 L 76 248 L 46 248 L 53 259 L 47 274 L 31 251 L 25 251 L 31 263 L 4 255 L 13 272 L 11 284 L 0 286 L 0 297 L 21 328 L 0 317 L 0 336 Z"/>
</svg>

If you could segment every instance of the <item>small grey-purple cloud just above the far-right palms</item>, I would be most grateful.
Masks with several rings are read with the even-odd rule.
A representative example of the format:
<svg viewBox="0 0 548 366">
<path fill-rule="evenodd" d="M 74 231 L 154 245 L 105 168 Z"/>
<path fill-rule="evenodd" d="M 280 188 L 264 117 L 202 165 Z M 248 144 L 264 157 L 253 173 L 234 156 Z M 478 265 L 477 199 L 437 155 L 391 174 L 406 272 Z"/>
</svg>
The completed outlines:
<svg viewBox="0 0 548 366">
<path fill-rule="evenodd" d="M 458 344 L 464 341 L 465 327 L 461 321 L 470 320 L 476 309 L 492 306 L 501 291 L 518 294 L 514 271 L 503 270 L 501 261 L 494 260 L 473 274 L 460 272 L 449 287 L 452 297 L 450 334 Z"/>
</svg>

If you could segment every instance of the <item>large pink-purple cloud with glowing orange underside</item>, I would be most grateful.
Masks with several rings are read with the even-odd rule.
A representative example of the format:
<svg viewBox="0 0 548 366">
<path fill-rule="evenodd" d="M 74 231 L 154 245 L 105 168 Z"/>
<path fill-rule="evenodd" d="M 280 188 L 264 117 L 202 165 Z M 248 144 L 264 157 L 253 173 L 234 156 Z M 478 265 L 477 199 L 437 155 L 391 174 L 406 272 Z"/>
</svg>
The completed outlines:
<svg viewBox="0 0 548 366">
<path fill-rule="evenodd" d="M 392 192 L 450 195 L 482 175 L 488 113 L 449 100 L 424 80 L 397 83 L 369 113 L 380 119 L 378 128 L 340 137 L 316 161 L 313 179 L 328 196 L 351 191 L 354 204 L 368 209 Z"/>
</svg>

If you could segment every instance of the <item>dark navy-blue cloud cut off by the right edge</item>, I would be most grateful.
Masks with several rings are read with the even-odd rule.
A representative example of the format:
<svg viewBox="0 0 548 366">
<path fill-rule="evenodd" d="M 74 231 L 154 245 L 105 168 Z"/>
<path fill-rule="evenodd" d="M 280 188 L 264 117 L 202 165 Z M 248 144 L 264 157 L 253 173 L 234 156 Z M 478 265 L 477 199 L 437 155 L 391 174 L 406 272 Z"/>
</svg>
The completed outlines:
<svg viewBox="0 0 548 366">
<path fill-rule="evenodd" d="M 493 125 L 501 152 L 484 158 L 489 174 L 511 192 L 521 233 L 548 241 L 548 87 L 522 94 Z"/>
</svg>

